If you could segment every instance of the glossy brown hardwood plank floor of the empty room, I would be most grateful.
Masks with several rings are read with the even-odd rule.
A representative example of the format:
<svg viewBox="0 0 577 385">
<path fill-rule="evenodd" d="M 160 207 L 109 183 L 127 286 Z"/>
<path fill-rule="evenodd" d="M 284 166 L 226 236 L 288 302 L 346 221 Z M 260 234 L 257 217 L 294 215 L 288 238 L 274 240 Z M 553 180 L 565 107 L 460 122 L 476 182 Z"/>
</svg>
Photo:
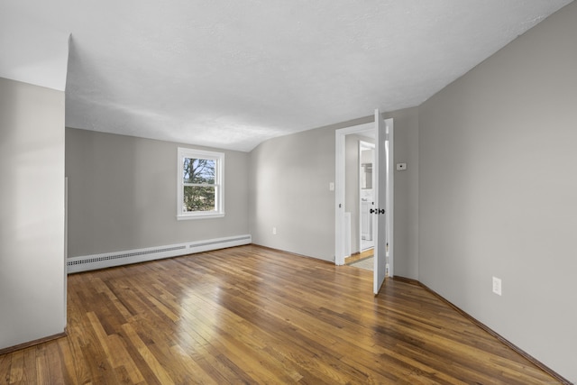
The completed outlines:
<svg viewBox="0 0 577 385">
<path fill-rule="evenodd" d="M 559 383 L 425 289 L 371 289 L 253 245 L 73 274 L 69 335 L 0 355 L 0 381 Z"/>
</svg>

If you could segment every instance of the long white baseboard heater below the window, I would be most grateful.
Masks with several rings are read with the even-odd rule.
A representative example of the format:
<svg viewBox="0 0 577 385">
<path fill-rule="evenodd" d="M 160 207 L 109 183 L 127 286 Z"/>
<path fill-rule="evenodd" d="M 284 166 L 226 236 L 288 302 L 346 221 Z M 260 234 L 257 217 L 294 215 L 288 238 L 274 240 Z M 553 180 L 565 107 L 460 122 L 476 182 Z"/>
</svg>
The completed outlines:
<svg viewBox="0 0 577 385">
<path fill-rule="evenodd" d="M 179 255 L 193 254 L 196 252 L 209 252 L 211 250 L 241 246 L 250 243 L 252 243 L 251 235 L 238 235 L 205 241 L 149 247 L 146 249 L 127 250 L 123 252 L 105 252 L 102 254 L 71 257 L 68 259 L 66 264 L 68 273 L 70 274 L 73 272 L 104 269 L 113 266 L 127 265 L 130 263 L 178 257 Z"/>
</svg>

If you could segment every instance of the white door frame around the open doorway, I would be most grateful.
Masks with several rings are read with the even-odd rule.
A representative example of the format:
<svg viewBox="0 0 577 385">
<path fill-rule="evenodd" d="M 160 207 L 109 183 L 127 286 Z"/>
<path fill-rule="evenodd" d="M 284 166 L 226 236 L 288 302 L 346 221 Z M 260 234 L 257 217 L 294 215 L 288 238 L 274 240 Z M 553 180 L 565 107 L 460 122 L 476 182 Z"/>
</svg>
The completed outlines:
<svg viewBox="0 0 577 385">
<path fill-rule="evenodd" d="M 389 277 L 394 276 L 393 261 L 394 261 L 394 247 L 393 247 L 393 234 L 394 234 L 394 172 L 393 161 L 394 161 L 394 141 L 393 141 L 393 119 L 385 119 L 385 124 L 389 129 Z M 346 135 L 352 133 L 361 133 L 367 130 L 374 130 L 375 123 L 370 122 L 367 124 L 357 124 L 350 127 L 341 128 L 335 130 L 334 132 L 334 264 L 341 266 L 344 264 L 344 180 L 345 180 L 345 137 Z M 384 165 L 383 165 L 384 166 Z M 386 177 L 386 167 L 380 167 L 380 172 L 383 173 L 383 177 Z M 375 239 L 375 243 L 378 239 Z M 384 245 L 386 247 L 386 244 Z"/>
</svg>

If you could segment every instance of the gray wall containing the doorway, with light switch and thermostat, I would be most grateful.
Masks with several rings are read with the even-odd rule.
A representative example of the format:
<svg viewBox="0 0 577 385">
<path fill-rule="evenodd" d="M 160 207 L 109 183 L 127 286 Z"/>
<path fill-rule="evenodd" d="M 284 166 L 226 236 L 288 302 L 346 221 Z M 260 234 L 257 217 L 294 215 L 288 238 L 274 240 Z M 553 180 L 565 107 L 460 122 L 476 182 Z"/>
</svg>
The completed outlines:
<svg viewBox="0 0 577 385">
<path fill-rule="evenodd" d="M 395 274 L 417 280 L 418 110 L 395 119 Z M 262 142 L 251 152 L 250 215 L 253 243 L 334 261 L 334 132 L 372 116 Z M 277 234 L 272 234 L 272 227 Z"/>
</svg>

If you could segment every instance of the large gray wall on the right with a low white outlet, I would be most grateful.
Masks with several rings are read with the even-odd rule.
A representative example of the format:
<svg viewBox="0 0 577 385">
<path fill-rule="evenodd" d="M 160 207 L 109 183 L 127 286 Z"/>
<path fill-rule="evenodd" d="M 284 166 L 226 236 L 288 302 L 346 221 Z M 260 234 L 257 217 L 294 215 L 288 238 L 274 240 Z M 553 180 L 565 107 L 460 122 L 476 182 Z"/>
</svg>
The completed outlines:
<svg viewBox="0 0 577 385">
<path fill-rule="evenodd" d="M 572 3 L 426 101 L 418 138 L 419 280 L 572 381 L 576 20 Z"/>
</svg>

